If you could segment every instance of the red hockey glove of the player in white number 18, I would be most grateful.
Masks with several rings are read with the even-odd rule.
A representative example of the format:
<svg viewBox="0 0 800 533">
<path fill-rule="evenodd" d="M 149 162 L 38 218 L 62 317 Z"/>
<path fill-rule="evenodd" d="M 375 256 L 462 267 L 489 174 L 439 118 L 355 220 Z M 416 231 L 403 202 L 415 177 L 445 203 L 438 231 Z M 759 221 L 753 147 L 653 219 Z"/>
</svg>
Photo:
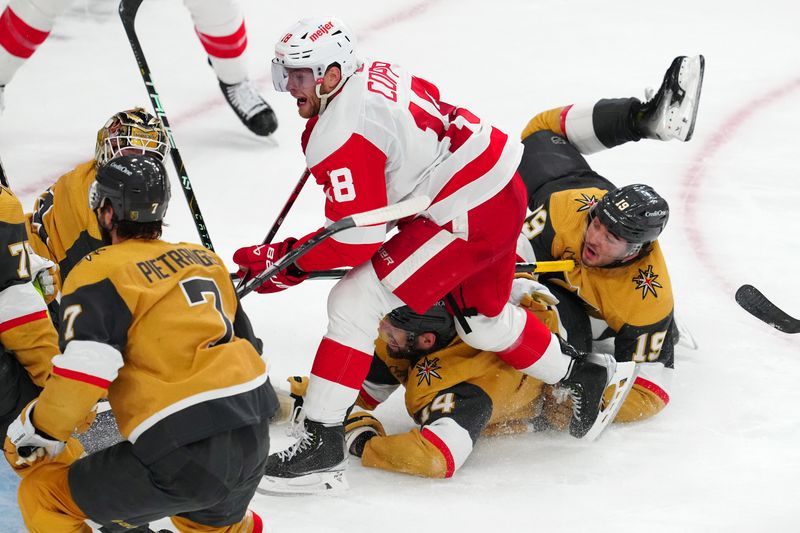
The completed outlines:
<svg viewBox="0 0 800 533">
<path fill-rule="evenodd" d="M 239 265 L 239 271 L 236 274 L 240 278 L 244 277 L 245 281 L 252 279 L 289 253 L 296 242 L 297 239 L 289 238 L 276 244 L 258 244 L 239 248 L 233 254 L 233 261 Z M 280 292 L 301 283 L 306 278 L 308 278 L 308 274 L 294 265 L 289 265 L 264 281 L 255 291 L 261 294 Z"/>
</svg>

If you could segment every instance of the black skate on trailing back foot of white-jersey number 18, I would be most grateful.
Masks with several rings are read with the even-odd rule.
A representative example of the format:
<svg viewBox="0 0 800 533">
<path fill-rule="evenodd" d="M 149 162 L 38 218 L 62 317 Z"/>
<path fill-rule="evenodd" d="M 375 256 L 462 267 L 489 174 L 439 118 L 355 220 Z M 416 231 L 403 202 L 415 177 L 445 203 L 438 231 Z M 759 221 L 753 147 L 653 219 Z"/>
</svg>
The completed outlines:
<svg viewBox="0 0 800 533">
<path fill-rule="evenodd" d="M 569 374 L 559 384 L 572 398 L 569 432 L 573 437 L 595 440 L 617 415 L 628 396 L 638 369 L 636 363 L 618 363 L 608 354 L 583 354 L 562 343 L 562 351 L 574 358 Z M 603 405 L 606 389 L 613 390 Z"/>
</svg>

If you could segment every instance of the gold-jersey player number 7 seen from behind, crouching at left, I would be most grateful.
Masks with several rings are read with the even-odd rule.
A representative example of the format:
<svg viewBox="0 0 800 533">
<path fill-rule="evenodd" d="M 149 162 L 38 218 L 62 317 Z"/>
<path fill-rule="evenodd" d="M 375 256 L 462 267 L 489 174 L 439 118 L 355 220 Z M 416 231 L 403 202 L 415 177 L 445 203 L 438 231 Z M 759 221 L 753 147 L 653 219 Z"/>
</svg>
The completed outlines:
<svg viewBox="0 0 800 533">
<path fill-rule="evenodd" d="M 247 505 L 277 400 L 221 259 L 159 239 L 168 200 L 156 158 L 98 169 L 90 203 L 110 246 L 66 280 L 62 354 L 9 440 L 21 456 L 51 457 L 104 395 L 125 440 L 71 466 L 31 467 L 19 505 L 34 533 L 89 532 L 87 518 L 125 531 L 167 516 L 182 532 L 262 531 Z"/>
</svg>

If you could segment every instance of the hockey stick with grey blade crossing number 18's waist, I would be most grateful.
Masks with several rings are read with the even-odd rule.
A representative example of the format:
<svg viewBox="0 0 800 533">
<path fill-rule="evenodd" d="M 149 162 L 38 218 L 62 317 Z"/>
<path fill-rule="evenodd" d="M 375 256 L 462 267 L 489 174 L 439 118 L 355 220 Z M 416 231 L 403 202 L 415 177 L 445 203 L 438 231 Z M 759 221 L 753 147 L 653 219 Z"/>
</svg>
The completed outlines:
<svg viewBox="0 0 800 533">
<path fill-rule="evenodd" d="M 420 211 L 426 209 L 430 203 L 431 200 L 427 196 L 417 196 L 393 205 L 381 207 L 379 209 L 373 209 L 372 211 L 365 211 L 363 213 L 356 213 L 355 215 L 350 215 L 349 217 L 337 220 L 327 228 L 323 228 L 318 231 L 313 237 L 311 237 L 302 245 L 298 246 L 294 250 L 289 251 L 288 254 L 281 257 L 274 265 L 259 273 L 236 292 L 238 293 L 239 298 L 245 297 L 254 289 L 258 288 L 266 280 L 300 259 L 314 246 L 335 233 L 339 233 L 340 231 L 350 228 L 384 224 L 391 220 L 398 220 L 400 218 L 416 215 Z"/>
</svg>

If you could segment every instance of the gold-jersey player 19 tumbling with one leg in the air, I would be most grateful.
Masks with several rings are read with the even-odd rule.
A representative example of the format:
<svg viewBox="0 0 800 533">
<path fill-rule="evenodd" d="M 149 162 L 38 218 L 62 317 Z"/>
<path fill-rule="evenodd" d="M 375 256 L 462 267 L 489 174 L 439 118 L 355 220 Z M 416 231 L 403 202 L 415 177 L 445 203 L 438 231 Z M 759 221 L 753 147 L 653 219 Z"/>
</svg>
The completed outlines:
<svg viewBox="0 0 800 533">
<path fill-rule="evenodd" d="M 617 188 L 581 154 L 642 138 L 688 141 L 704 71 L 703 56 L 678 57 L 647 102 L 600 100 L 536 115 L 522 133 L 519 172 L 533 212 L 518 255 L 574 259 L 575 270 L 540 276 L 555 294 L 560 334 L 578 350 L 614 339 L 618 361 L 635 361 L 636 385 L 617 422 L 647 418 L 669 402 L 677 341 L 672 284 L 657 238 L 669 206 L 652 187 Z"/>
</svg>

